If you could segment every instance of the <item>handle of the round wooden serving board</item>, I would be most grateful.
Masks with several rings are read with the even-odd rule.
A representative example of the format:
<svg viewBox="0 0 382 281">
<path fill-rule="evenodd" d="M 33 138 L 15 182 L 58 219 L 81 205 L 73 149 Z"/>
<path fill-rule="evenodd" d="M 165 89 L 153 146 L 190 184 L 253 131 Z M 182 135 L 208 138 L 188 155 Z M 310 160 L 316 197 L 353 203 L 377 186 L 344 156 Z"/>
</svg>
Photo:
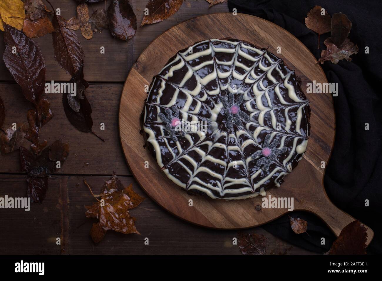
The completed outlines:
<svg viewBox="0 0 382 281">
<path fill-rule="evenodd" d="M 337 206 L 335 206 L 327 196 L 325 189 L 324 196 L 316 198 L 314 205 L 316 206 L 312 206 L 313 208 L 307 211 L 311 211 L 312 213 L 315 213 L 317 216 L 319 216 L 327 224 L 327 226 L 329 226 L 329 228 L 334 232 L 334 234 L 337 237 L 340 235 L 342 229 L 345 226 L 350 224 L 352 221 L 356 220 L 355 218 L 350 216 L 350 214 L 345 213 L 344 211 L 340 210 Z M 317 205 L 319 206 L 318 208 Z M 369 245 L 374 237 L 374 231 L 372 231 L 372 229 L 366 226 L 365 224 L 363 224 L 363 226 L 367 228 L 366 245 Z"/>
</svg>

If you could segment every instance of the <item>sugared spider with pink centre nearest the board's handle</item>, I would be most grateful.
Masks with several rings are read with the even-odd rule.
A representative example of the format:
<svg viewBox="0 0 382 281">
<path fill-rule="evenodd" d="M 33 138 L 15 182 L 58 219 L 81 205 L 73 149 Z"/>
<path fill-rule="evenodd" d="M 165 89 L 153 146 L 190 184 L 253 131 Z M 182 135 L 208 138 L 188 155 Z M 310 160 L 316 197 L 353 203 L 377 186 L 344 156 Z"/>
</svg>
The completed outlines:
<svg viewBox="0 0 382 281">
<path fill-rule="evenodd" d="M 258 150 L 251 155 L 252 159 L 255 159 L 257 156 L 261 156 L 256 161 L 256 166 L 260 168 L 262 167 L 263 171 L 268 171 L 272 160 L 276 160 L 278 154 L 284 153 L 287 150 L 285 146 L 283 146 L 280 149 L 276 148 L 276 146 L 278 145 L 277 139 L 273 140 L 272 143 L 269 144 L 270 137 L 270 134 L 265 136 L 263 149 Z"/>
</svg>

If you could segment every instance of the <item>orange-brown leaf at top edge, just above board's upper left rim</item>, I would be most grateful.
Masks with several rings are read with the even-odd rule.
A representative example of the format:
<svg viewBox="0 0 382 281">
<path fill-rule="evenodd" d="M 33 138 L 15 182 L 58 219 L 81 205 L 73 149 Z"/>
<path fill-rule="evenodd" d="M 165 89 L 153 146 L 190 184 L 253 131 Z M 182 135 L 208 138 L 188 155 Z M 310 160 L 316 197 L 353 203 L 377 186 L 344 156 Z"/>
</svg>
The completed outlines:
<svg viewBox="0 0 382 281">
<path fill-rule="evenodd" d="M 149 0 L 146 8 L 149 9 L 149 15 L 144 15 L 141 26 L 145 24 L 159 23 L 175 14 L 183 0 Z"/>
</svg>

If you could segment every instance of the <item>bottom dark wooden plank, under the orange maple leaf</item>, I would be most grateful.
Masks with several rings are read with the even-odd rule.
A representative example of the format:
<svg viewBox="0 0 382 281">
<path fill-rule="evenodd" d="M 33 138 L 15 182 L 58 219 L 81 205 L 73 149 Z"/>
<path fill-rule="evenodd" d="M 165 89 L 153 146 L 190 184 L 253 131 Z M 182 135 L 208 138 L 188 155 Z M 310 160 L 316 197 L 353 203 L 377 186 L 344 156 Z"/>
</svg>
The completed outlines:
<svg viewBox="0 0 382 281">
<path fill-rule="evenodd" d="M 94 192 L 99 192 L 110 176 L 87 176 Z M 133 183 L 134 190 L 147 197 L 132 177 L 119 177 L 123 185 Z M 78 187 L 77 187 L 77 184 Z M 22 175 L 0 175 L 0 197 L 24 197 L 26 178 Z M 1 209 L 1 254 L 240 254 L 232 238 L 237 231 L 218 231 L 186 223 L 146 198 L 131 210 L 141 235 L 125 235 L 108 231 L 94 245 L 89 231 L 94 219 L 85 217 L 85 205 L 95 202 L 82 176 L 53 176 L 44 202 L 33 204 L 31 210 Z M 191 208 L 191 207 L 190 207 Z M 17 219 L 15 219 L 17 218 Z M 6 226 L 6 227 L 4 227 Z M 268 254 L 308 254 L 273 237 L 261 227 L 247 230 L 267 237 Z M 56 238 L 61 245 L 56 245 Z M 144 238 L 149 245 L 144 245 Z"/>
</svg>

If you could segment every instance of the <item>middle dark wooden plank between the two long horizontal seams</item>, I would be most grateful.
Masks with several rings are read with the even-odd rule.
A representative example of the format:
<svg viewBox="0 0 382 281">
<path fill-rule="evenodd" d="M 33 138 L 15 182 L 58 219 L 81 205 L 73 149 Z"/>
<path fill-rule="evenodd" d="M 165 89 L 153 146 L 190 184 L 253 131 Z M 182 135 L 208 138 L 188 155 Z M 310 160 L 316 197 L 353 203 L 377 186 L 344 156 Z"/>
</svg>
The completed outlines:
<svg viewBox="0 0 382 281">
<path fill-rule="evenodd" d="M 41 129 L 40 139 L 46 139 L 48 145 L 61 138 L 70 145 L 70 155 L 58 174 L 111 174 L 113 170 L 120 175 L 131 175 L 121 151 L 118 136 L 118 108 L 122 91 L 120 85 L 91 85 L 86 96 L 92 106 L 93 130 L 106 141 L 99 140 L 91 133 L 76 130 L 66 118 L 62 106 L 62 94 L 44 94 L 55 114 L 52 120 Z M 0 95 L 5 104 L 5 123 L 3 128 L 12 123 L 27 122 L 26 113 L 32 108 L 21 92 L 18 84 L 1 84 Z M 100 123 L 105 123 L 105 130 L 100 130 Z M 24 146 L 29 148 L 25 140 Z M 19 152 L 0 156 L 1 173 L 19 173 Z"/>
</svg>

